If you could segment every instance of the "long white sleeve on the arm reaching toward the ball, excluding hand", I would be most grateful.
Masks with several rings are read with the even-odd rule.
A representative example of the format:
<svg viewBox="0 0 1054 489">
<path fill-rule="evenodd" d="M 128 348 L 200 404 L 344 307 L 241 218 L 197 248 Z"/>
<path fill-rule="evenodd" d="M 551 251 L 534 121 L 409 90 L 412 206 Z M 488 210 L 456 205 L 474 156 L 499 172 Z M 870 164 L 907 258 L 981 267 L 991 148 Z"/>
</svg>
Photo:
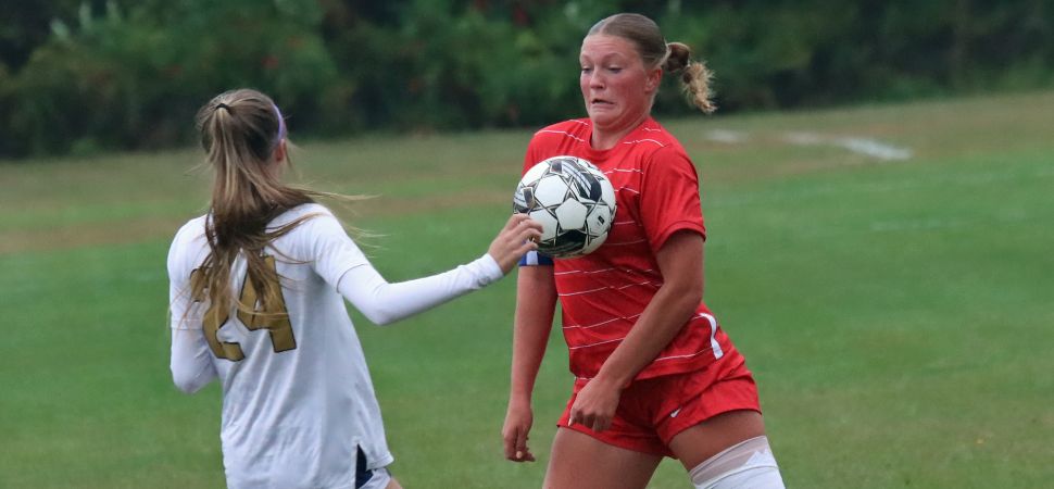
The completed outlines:
<svg viewBox="0 0 1054 489">
<path fill-rule="evenodd" d="M 501 277 L 501 267 L 490 254 L 449 272 L 397 284 L 389 284 L 366 263 L 344 273 L 338 290 L 366 318 L 386 325 L 480 289 Z"/>
</svg>

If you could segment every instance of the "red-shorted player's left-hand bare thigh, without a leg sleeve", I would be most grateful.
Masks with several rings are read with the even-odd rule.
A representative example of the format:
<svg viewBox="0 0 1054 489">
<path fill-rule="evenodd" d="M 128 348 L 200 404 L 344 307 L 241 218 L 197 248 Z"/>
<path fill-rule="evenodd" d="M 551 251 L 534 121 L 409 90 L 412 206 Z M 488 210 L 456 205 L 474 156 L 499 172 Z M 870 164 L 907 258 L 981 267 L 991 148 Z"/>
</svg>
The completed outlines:
<svg viewBox="0 0 1054 489">
<path fill-rule="evenodd" d="M 604 443 L 559 428 L 545 473 L 545 489 L 642 489 L 662 456 Z"/>
</svg>

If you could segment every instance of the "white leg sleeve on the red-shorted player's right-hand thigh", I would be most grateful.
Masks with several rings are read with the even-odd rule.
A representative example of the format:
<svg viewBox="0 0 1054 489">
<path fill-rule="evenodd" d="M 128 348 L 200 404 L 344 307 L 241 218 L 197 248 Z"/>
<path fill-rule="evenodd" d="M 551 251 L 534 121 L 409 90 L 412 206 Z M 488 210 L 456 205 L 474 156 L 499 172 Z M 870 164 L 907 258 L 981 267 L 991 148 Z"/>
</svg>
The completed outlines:
<svg viewBox="0 0 1054 489">
<path fill-rule="evenodd" d="M 733 444 L 697 465 L 689 475 L 697 489 L 783 489 L 768 437 Z"/>
</svg>

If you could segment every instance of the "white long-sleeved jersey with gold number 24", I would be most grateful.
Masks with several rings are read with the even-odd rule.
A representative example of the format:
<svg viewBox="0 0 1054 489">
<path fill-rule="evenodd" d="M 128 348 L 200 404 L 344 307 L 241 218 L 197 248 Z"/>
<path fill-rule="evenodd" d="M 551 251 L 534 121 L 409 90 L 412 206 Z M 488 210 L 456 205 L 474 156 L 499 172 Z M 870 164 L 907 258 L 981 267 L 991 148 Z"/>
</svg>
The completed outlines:
<svg viewBox="0 0 1054 489">
<path fill-rule="evenodd" d="M 388 284 L 322 205 L 300 205 L 271 227 L 310 214 L 317 215 L 265 251 L 283 277 L 288 319 L 231 309 L 223 324 L 203 321 L 209 301 L 191 300 L 189 286 L 209 254 L 205 216 L 180 228 L 170 250 L 173 378 L 193 392 L 218 377 L 230 488 L 353 488 L 356 449 L 368 469 L 390 464 L 380 410 L 344 298 L 367 318 L 388 323 L 502 275 L 484 255 L 443 274 Z M 243 258 L 235 261 L 231 276 L 236 297 L 255 303 L 253 287 L 244 284 Z"/>
</svg>

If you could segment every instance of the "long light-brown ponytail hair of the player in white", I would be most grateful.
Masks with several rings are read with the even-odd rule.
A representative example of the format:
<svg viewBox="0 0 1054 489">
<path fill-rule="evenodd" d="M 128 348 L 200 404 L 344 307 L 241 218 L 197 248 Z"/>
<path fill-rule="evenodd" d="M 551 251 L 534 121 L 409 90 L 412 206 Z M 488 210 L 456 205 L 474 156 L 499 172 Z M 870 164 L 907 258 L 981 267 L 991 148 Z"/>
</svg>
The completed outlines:
<svg viewBox="0 0 1054 489">
<path fill-rule="evenodd" d="M 211 301 L 216 317 L 206 321 L 219 322 L 231 303 L 247 313 L 280 311 L 280 277 L 268 266 L 264 249 L 314 215 L 274 229 L 267 224 L 321 193 L 281 183 L 275 151 L 286 138 L 286 124 L 266 95 L 251 89 L 221 93 L 198 111 L 197 123 L 215 181 L 205 221 L 209 255 L 191 277 L 190 297 Z M 256 290 L 259 311 L 231 292 L 231 266 L 239 254 L 246 258 L 246 280 Z"/>
</svg>

